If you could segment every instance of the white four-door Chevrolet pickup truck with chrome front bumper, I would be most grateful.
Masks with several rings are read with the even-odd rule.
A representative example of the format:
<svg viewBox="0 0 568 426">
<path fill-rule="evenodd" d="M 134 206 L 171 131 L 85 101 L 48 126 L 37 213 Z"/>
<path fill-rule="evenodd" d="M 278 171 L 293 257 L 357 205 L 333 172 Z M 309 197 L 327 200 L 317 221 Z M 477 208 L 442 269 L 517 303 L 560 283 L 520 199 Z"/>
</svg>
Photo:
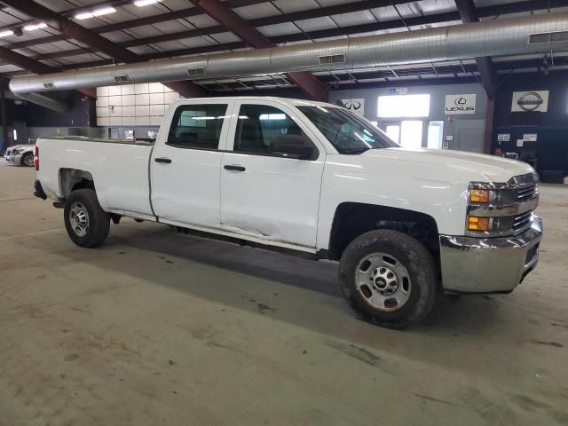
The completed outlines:
<svg viewBox="0 0 568 426">
<path fill-rule="evenodd" d="M 400 148 L 340 106 L 187 99 L 155 142 L 40 138 L 35 193 L 75 244 L 121 217 L 340 262 L 343 296 L 383 327 L 439 291 L 508 293 L 538 261 L 538 176 L 524 162 Z"/>
</svg>

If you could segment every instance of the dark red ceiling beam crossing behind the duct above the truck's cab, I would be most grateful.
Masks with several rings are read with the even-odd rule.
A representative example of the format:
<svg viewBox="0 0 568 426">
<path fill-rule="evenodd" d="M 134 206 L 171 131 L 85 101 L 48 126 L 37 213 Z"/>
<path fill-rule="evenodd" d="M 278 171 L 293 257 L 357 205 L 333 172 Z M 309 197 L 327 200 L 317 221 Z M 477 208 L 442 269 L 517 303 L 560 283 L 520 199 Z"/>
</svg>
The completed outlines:
<svg viewBox="0 0 568 426">
<path fill-rule="evenodd" d="M 196 5 L 201 11 L 207 13 L 214 20 L 217 20 L 222 27 L 231 31 L 234 35 L 238 36 L 242 41 L 250 44 L 255 49 L 264 49 L 276 45 L 219 0 L 199 0 Z M 319 80 L 311 73 L 307 71 L 296 71 L 288 73 L 288 76 L 312 99 L 326 99 L 327 86 L 319 83 Z"/>
</svg>

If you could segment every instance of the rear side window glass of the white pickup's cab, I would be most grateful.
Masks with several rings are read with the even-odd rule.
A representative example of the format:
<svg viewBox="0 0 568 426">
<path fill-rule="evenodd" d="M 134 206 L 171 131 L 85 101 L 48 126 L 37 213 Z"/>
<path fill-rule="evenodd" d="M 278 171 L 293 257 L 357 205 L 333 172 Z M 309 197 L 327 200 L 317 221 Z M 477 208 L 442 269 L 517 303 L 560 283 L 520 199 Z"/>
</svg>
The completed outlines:
<svg viewBox="0 0 568 426">
<path fill-rule="evenodd" d="M 178 106 L 167 144 L 177 148 L 218 149 L 226 104 Z"/>
</svg>

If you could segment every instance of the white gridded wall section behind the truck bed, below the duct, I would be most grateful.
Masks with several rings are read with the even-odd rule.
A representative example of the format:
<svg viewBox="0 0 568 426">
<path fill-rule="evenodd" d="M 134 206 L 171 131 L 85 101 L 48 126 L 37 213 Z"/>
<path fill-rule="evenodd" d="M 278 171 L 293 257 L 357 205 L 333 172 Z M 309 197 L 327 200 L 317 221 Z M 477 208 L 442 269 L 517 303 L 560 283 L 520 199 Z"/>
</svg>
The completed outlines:
<svg viewBox="0 0 568 426">
<path fill-rule="evenodd" d="M 97 125 L 159 126 L 168 106 L 179 98 L 162 83 L 98 87 Z"/>
</svg>

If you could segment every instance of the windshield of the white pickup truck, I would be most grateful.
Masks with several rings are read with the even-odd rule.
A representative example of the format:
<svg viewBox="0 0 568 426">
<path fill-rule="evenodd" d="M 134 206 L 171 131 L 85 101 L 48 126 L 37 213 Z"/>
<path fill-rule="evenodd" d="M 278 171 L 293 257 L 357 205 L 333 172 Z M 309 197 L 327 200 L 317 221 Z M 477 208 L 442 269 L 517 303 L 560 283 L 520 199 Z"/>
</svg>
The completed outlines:
<svg viewBox="0 0 568 426">
<path fill-rule="evenodd" d="M 298 106 L 298 109 L 339 154 L 361 154 L 368 149 L 398 147 L 382 130 L 346 109 L 330 106 Z"/>
</svg>

